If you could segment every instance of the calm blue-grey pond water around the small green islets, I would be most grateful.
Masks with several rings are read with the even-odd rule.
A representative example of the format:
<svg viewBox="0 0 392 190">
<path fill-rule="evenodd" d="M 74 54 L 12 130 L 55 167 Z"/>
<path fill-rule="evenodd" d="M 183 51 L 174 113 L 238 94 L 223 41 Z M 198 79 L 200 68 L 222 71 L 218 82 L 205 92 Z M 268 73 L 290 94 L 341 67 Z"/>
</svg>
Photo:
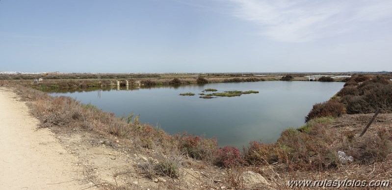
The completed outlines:
<svg viewBox="0 0 392 190">
<path fill-rule="evenodd" d="M 220 146 L 242 147 L 251 140 L 275 141 L 288 127 L 304 124 L 315 103 L 327 101 L 343 87 L 343 82 L 261 81 L 210 83 L 141 88 L 109 87 L 79 92 L 55 92 L 91 103 L 99 109 L 127 116 L 140 114 L 140 121 L 160 127 L 170 134 L 188 132 L 217 137 Z M 218 92 L 257 90 L 259 94 L 201 99 L 206 88 Z M 193 92 L 195 96 L 179 96 Z M 208 92 L 206 92 L 208 93 Z"/>
</svg>

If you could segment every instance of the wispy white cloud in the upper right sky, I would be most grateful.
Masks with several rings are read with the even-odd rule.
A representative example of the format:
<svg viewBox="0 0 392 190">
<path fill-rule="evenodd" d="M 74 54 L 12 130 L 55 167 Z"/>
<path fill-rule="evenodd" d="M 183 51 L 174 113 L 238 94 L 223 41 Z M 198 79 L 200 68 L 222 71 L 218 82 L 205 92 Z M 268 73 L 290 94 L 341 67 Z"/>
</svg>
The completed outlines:
<svg viewBox="0 0 392 190">
<path fill-rule="evenodd" d="M 309 42 L 392 16 L 391 0 L 229 0 L 233 15 L 276 41 Z M 227 2 L 227 1 L 226 1 Z"/>
</svg>

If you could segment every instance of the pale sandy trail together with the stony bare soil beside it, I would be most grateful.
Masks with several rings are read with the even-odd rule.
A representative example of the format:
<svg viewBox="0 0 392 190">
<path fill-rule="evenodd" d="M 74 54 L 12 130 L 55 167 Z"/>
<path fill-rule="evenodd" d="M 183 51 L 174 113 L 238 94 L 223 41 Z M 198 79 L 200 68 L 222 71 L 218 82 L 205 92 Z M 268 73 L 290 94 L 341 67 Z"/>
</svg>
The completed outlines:
<svg viewBox="0 0 392 190">
<path fill-rule="evenodd" d="M 178 178 L 147 178 L 138 165 L 157 154 L 76 129 L 40 128 L 26 102 L 0 87 L 0 187 L 29 190 L 226 189 L 225 171 L 184 158 Z M 1 189 L 0 188 L 0 189 Z"/>
</svg>

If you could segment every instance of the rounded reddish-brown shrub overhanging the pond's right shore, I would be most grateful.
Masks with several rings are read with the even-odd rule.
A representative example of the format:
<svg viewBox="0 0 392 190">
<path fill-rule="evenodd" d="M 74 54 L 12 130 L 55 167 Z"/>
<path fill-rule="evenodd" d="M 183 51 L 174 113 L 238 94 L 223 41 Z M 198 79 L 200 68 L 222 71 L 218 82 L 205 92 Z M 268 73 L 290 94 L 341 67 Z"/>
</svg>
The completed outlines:
<svg viewBox="0 0 392 190">
<path fill-rule="evenodd" d="M 344 105 L 337 100 L 329 100 L 323 103 L 317 103 L 313 105 L 312 110 L 305 117 L 305 121 L 316 118 L 316 117 L 339 117 L 345 113 Z"/>
</svg>

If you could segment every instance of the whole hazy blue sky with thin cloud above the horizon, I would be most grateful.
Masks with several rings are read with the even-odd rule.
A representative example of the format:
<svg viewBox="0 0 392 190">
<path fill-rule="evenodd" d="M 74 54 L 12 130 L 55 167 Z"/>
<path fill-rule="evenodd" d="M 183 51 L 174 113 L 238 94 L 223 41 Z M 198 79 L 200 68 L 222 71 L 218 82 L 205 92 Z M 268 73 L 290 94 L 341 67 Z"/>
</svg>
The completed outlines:
<svg viewBox="0 0 392 190">
<path fill-rule="evenodd" d="M 392 71 L 392 0 L 0 0 L 0 71 Z"/>
</svg>

